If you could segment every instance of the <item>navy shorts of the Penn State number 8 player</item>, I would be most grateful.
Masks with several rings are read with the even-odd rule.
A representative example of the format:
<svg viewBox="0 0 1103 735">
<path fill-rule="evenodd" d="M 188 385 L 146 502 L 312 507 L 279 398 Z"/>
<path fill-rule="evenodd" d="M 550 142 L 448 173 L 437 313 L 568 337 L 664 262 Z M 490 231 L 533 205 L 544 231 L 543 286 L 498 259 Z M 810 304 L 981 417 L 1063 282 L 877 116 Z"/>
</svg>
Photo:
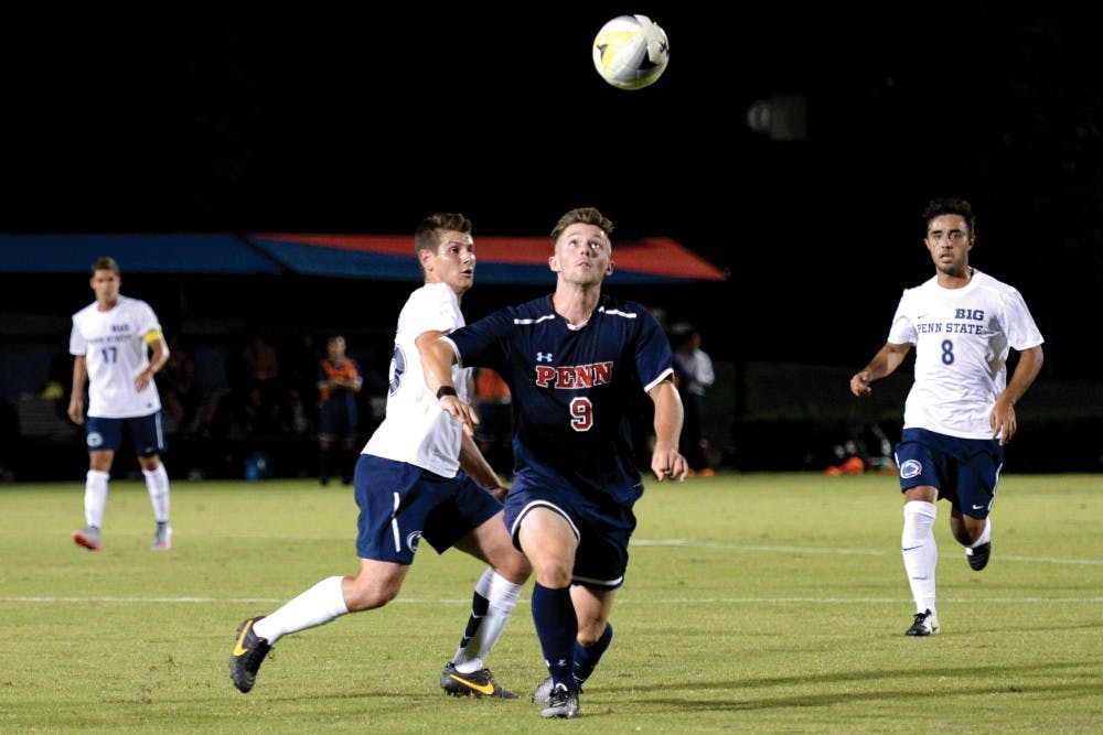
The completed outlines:
<svg viewBox="0 0 1103 735">
<path fill-rule="evenodd" d="M 987 518 L 996 499 L 1004 447 L 995 439 L 959 439 L 904 429 L 896 450 L 900 490 L 930 485 L 966 516 Z"/>
</svg>

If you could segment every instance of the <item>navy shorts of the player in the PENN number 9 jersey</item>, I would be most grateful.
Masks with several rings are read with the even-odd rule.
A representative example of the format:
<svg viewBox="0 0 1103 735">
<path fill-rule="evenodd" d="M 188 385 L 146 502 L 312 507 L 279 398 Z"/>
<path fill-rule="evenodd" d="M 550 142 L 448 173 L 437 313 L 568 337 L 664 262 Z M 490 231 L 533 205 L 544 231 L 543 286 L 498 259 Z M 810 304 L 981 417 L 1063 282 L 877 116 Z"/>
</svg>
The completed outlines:
<svg viewBox="0 0 1103 735">
<path fill-rule="evenodd" d="M 604 495 L 583 495 L 565 480 L 553 482 L 522 471 L 505 497 L 505 527 L 517 549 L 521 549 L 517 540 L 521 521 L 533 508 L 554 510 L 575 529 L 578 551 L 571 574 L 574 584 L 595 590 L 615 590 L 624 584 L 628 543 L 635 530 L 631 507 Z"/>
</svg>

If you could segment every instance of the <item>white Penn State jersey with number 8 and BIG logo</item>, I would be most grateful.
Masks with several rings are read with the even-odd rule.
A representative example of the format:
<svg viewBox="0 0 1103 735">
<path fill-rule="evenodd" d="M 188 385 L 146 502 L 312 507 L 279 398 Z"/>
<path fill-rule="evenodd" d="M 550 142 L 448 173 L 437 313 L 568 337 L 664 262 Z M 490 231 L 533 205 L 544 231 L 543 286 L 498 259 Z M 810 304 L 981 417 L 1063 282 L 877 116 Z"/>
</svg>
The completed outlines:
<svg viewBox="0 0 1103 735">
<path fill-rule="evenodd" d="M 915 346 L 903 428 L 961 439 L 992 439 L 988 414 L 1007 386 L 1008 348 L 1043 342 L 1019 292 L 976 269 L 961 289 L 936 277 L 904 289 L 888 341 Z"/>
</svg>

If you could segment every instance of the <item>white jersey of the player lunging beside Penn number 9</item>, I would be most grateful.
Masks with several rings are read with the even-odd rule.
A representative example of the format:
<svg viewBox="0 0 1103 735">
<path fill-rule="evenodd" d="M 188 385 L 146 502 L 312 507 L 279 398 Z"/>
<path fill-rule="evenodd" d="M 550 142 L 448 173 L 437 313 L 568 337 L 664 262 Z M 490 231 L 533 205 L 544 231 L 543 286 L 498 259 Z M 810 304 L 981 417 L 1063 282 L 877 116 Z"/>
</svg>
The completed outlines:
<svg viewBox="0 0 1103 735">
<path fill-rule="evenodd" d="M 390 357 L 387 413 L 367 440 L 364 454 L 408 462 L 443 477 L 459 469 L 462 424 L 448 415 L 425 385 L 415 341 L 424 332 L 451 332 L 464 325 L 456 293 L 447 283 L 428 283 L 406 300 Z M 468 400 L 470 368 L 452 367 L 452 385 Z"/>
</svg>

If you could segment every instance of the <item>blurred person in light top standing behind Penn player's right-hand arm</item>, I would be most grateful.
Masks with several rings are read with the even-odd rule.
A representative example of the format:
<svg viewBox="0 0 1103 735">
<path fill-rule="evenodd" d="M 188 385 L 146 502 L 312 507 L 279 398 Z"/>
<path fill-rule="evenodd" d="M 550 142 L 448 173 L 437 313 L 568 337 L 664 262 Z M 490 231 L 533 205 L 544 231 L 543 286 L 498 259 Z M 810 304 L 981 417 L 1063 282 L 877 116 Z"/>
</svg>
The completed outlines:
<svg viewBox="0 0 1103 735">
<path fill-rule="evenodd" d="M 671 327 L 674 347 L 674 371 L 678 392 L 685 410 L 682 441 L 678 451 L 696 475 L 715 474 L 708 458 L 708 440 L 703 435 L 705 420 L 705 391 L 716 382 L 713 358 L 700 348 L 700 332 L 692 324 L 679 323 Z"/>
</svg>

